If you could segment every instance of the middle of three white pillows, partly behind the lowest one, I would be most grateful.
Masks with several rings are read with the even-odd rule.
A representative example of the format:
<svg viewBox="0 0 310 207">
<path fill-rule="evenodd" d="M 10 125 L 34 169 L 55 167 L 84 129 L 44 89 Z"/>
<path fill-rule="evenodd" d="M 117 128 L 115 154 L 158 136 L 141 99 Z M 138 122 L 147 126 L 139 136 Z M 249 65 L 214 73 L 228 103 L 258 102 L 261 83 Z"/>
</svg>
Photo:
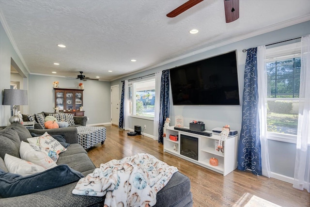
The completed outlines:
<svg viewBox="0 0 310 207">
<path fill-rule="evenodd" d="M 42 147 L 21 141 L 19 148 L 19 155 L 21 159 L 25 159 L 47 169 L 56 167 L 56 162 L 48 157 L 47 153 L 48 152 L 46 152 Z"/>
</svg>

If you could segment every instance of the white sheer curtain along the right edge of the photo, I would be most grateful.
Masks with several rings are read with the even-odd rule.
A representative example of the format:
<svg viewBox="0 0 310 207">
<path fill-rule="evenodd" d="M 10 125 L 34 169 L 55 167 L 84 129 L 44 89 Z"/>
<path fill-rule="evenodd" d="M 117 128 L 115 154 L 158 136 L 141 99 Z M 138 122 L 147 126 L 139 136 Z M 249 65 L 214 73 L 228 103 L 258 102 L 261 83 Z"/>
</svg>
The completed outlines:
<svg viewBox="0 0 310 207">
<path fill-rule="evenodd" d="M 310 192 L 310 35 L 301 38 L 299 114 L 293 187 Z"/>
</svg>

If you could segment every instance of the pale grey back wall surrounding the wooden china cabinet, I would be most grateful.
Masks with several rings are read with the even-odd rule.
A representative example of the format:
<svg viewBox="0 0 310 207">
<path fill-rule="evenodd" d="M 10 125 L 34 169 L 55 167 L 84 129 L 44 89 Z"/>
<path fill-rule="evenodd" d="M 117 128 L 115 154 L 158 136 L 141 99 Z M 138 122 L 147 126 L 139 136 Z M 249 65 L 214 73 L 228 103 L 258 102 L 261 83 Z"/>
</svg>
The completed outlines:
<svg viewBox="0 0 310 207">
<path fill-rule="evenodd" d="M 83 82 L 83 109 L 90 124 L 110 123 L 110 82 L 66 79 L 55 76 L 30 75 L 29 77 L 29 113 L 52 112 L 55 107 L 53 82 L 59 81 L 59 88 L 78 89 Z"/>
</svg>

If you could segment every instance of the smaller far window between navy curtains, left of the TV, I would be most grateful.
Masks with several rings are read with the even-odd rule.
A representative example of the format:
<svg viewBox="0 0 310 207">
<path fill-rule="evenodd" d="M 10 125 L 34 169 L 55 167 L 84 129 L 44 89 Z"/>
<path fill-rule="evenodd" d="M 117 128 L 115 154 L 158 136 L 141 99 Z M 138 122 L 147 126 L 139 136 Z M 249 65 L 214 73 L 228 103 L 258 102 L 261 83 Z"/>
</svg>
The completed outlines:
<svg viewBox="0 0 310 207">
<path fill-rule="evenodd" d="M 129 87 L 129 113 L 144 118 L 155 117 L 155 79 L 131 82 Z"/>
</svg>

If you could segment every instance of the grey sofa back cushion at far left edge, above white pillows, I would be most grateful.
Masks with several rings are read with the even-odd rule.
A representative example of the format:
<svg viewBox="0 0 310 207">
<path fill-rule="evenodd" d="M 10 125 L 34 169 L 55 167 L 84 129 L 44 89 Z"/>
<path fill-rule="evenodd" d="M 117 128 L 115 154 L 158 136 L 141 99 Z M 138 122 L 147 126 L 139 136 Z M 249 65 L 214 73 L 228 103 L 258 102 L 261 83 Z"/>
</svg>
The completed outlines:
<svg viewBox="0 0 310 207">
<path fill-rule="evenodd" d="M 18 133 L 13 128 L 0 130 L 0 157 L 4 159 L 5 154 L 20 158 L 20 140 Z"/>
</svg>

